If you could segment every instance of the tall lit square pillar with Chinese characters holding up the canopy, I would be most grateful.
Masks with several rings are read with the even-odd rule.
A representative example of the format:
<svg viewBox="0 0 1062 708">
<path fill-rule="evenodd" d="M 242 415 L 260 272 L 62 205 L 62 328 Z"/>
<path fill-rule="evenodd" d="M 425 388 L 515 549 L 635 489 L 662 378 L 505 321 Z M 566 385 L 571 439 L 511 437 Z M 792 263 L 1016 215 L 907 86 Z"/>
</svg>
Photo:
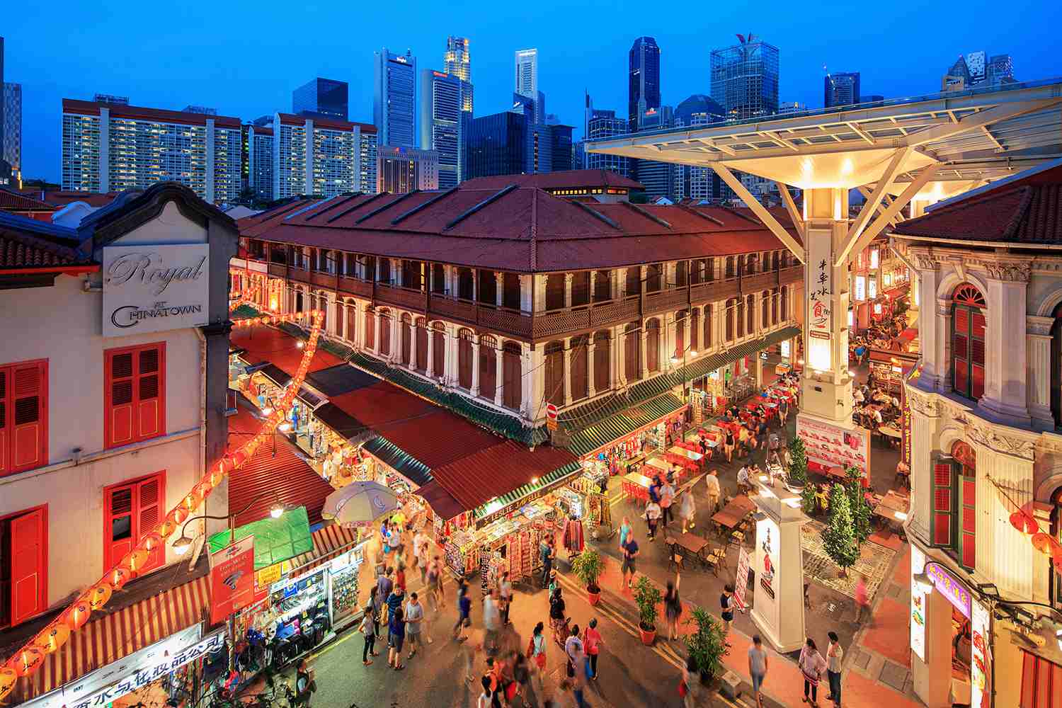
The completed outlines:
<svg viewBox="0 0 1062 708">
<path fill-rule="evenodd" d="M 847 190 L 804 192 L 804 378 L 801 417 L 852 428 L 847 263 L 835 266 L 849 232 Z"/>
</svg>

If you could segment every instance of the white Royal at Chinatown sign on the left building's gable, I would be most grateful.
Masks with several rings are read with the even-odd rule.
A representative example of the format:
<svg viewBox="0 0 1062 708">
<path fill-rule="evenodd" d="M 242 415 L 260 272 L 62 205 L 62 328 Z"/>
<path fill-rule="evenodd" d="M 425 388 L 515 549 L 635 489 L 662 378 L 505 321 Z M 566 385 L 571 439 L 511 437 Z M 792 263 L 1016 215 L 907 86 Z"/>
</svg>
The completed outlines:
<svg viewBox="0 0 1062 708">
<path fill-rule="evenodd" d="M 208 251 L 186 245 L 103 248 L 103 335 L 208 323 Z"/>
</svg>

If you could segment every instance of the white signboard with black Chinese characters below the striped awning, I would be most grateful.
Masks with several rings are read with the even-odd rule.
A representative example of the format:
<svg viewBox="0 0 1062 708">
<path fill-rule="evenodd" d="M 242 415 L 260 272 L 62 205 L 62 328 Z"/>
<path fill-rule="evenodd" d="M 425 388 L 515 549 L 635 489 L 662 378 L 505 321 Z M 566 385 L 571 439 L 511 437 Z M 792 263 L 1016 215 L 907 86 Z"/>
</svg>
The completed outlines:
<svg viewBox="0 0 1062 708">
<path fill-rule="evenodd" d="M 224 629 L 200 640 L 202 623 L 193 624 L 85 674 L 51 693 L 23 703 L 23 708 L 96 708 L 107 706 L 225 645 Z"/>
</svg>

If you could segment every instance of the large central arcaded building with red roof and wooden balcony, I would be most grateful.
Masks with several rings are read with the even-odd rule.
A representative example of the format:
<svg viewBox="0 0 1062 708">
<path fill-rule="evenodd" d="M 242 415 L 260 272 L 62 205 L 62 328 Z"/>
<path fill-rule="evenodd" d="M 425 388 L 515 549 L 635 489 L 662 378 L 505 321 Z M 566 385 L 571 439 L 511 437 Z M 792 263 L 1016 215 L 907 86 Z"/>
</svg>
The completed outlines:
<svg viewBox="0 0 1062 708">
<path fill-rule="evenodd" d="M 513 175 L 292 202 L 239 222 L 234 289 L 525 428 L 680 370 L 757 376 L 798 333 L 801 265 L 747 210 L 600 203 L 601 175 L 562 173 L 576 198 Z"/>
</svg>

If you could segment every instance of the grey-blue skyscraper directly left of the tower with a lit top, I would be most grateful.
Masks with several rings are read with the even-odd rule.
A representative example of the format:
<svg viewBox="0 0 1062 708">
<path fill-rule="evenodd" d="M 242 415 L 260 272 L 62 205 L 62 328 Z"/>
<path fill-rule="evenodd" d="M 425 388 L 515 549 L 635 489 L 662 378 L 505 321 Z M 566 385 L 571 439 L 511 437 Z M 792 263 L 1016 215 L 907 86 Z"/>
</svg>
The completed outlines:
<svg viewBox="0 0 1062 708">
<path fill-rule="evenodd" d="M 451 37 L 452 39 L 452 37 Z M 439 155 L 439 187 L 457 187 L 464 178 L 465 133 L 472 114 L 462 109 L 466 81 L 433 69 L 421 71 L 419 144 Z"/>
</svg>

